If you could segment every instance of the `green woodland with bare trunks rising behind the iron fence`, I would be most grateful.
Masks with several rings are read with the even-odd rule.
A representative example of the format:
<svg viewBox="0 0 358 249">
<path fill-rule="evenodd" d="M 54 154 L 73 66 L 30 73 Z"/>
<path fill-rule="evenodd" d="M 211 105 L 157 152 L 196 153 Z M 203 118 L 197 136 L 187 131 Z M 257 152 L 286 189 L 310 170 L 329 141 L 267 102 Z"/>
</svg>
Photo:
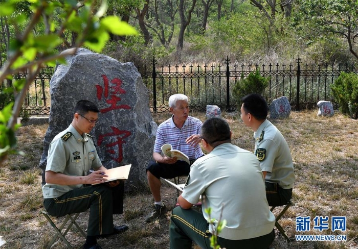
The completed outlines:
<svg viewBox="0 0 358 249">
<path fill-rule="evenodd" d="M 102 53 L 137 66 L 153 57 L 164 65 L 222 62 L 227 56 L 231 62 L 259 65 L 288 65 L 298 57 L 308 64 L 351 64 L 358 59 L 356 0 L 108 0 L 107 4 L 104 16 L 119 16 L 139 35 L 110 34 Z M 30 6 L 30 1 L 19 1 L 16 12 L 30 19 Z M 58 27 L 60 15 L 52 14 Z M 12 26 L 3 16 L 0 22 L 2 67 L 11 39 L 28 23 Z M 47 29 L 39 22 L 32 32 L 40 36 Z M 78 35 L 64 31 L 58 51 L 73 47 Z"/>
</svg>

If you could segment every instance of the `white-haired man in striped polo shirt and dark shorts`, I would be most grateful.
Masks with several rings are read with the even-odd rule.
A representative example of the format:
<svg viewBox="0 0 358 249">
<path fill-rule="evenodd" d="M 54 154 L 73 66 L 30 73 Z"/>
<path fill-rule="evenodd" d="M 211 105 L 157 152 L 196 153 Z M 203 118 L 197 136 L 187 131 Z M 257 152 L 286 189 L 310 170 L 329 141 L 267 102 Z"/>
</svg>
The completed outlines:
<svg viewBox="0 0 358 249">
<path fill-rule="evenodd" d="M 154 198 L 154 209 L 145 217 L 146 222 L 154 221 L 164 215 L 166 207 L 161 199 L 160 178 L 171 179 L 178 176 L 188 175 L 190 165 L 176 157 L 170 158 L 162 155 L 161 147 L 169 143 L 174 150 L 179 150 L 189 157 L 193 162 L 203 156 L 200 148 L 200 129 L 203 122 L 189 116 L 188 97 L 184 94 L 173 94 L 169 97 L 169 108 L 171 118 L 162 122 L 156 130 L 153 148 L 153 159 L 147 167 L 147 178 L 150 191 Z"/>
</svg>

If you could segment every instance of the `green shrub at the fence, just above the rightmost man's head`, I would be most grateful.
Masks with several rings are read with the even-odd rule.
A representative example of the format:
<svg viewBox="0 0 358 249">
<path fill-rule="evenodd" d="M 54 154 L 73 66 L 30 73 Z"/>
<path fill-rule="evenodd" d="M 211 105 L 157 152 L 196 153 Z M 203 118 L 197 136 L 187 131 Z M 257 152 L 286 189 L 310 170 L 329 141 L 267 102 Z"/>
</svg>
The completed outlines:
<svg viewBox="0 0 358 249">
<path fill-rule="evenodd" d="M 265 88 L 269 85 L 270 78 L 266 78 L 260 75 L 260 71 L 250 72 L 248 77 L 244 78 L 241 74 L 241 79 L 236 82 L 233 89 L 233 96 L 238 105 L 238 109 L 241 108 L 241 98 L 250 94 L 258 93 L 264 95 Z"/>
</svg>

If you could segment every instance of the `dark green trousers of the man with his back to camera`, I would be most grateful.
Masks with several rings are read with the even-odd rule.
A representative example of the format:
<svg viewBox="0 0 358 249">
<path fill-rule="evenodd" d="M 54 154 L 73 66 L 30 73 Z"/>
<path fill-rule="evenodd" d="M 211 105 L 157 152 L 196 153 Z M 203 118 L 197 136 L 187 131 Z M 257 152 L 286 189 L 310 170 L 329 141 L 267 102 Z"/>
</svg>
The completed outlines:
<svg viewBox="0 0 358 249">
<path fill-rule="evenodd" d="M 194 209 L 176 207 L 172 211 L 169 225 L 170 249 L 191 249 L 192 241 L 201 248 L 210 249 L 209 223 Z M 217 238 L 218 244 L 226 249 L 267 249 L 274 241 L 274 230 L 271 233 L 241 240 Z"/>
</svg>

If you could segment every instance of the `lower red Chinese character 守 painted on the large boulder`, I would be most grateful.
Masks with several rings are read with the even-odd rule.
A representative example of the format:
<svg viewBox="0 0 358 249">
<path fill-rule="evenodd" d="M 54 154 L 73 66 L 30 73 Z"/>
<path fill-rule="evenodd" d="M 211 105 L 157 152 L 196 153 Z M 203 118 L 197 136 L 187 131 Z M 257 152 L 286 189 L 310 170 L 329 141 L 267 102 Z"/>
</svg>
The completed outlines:
<svg viewBox="0 0 358 249">
<path fill-rule="evenodd" d="M 110 157 L 110 158 L 115 160 L 116 162 L 120 163 L 123 160 L 122 144 L 126 143 L 126 141 L 124 141 L 123 139 L 130 136 L 131 133 L 130 133 L 130 131 L 121 131 L 118 128 L 113 127 L 113 126 L 111 126 L 110 128 L 112 129 L 113 132 L 99 135 L 98 146 L 101 146 L 103 139 L 105 137 L 115 137 L 115 141 L 107 143 L 105 145 L 105 147 L 107 148 L 106 152 L 111 155 L 115 155 L 116 151 L 118 151 L 118 157 Z M 116 148 L 117 146 L 118 146 L 118 150 L 114 150 L 114 148 Z"/>
</svg>

